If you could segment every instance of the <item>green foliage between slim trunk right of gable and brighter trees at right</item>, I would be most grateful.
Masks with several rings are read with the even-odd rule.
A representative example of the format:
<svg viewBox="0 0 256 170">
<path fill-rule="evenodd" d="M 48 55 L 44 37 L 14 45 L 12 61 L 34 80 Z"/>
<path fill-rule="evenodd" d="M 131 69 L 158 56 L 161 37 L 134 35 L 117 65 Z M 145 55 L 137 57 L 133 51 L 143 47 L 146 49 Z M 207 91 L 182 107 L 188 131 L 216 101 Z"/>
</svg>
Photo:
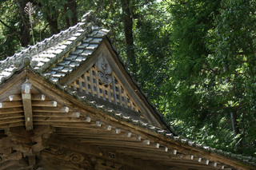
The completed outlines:
<svg viewBox="0 0 256 170">
<path fill-rule="evenodd" d="M 148 94 L 155 105 L 162 105 L 162 111 L 166 108 L 160 104 L 159 98 L 165 96 L 161 89 L 168 80 L 166 74 L 170 60 L 170 31 L 167 29 L 169 18 L 163 11 L 165 6 L 158 3 L 147 6 L 142 18 L 136 21 L 135 53 L 138 62 L 136 79 L 141 83 L 143 90 Z M 170 17 L 170 16 L 169 16 Z"/>
</svg>

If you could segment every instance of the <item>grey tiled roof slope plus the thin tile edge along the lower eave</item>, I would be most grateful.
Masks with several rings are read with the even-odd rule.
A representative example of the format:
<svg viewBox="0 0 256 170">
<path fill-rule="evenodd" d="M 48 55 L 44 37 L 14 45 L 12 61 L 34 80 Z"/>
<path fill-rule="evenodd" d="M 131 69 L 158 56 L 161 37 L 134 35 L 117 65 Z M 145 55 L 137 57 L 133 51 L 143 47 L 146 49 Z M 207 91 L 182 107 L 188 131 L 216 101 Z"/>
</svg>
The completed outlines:
<svg viewBox="0 0 256 170">
<path fill-rule="evenodd" d="M 86 14 L 82 22 L 78 23 L 78 25 L 70 27 L 70 29 L 64 30 L 51 38 L 46 38 L 43 42 L 38 42 L 36 45 L 30 46 L 27 49 L 23 49 L 20 53 L 16 53 L 12 57 L 7 57 L 4 61 L 0 61 L 0 84 L 5 82 L 16 71 L 23 69 L 23 58 L 30 57 L 30 66 L 38 75 L 50 84 L 55 85 L 58 89 L 82 101 L 85 105 L 90 105 L 111 117 L 146 128 L 181 144 L 187 144 L 194 148 L 202 148 L 208 152 L 216 152 L 219 155 L 256 166 L 255 158 L 223 152 L 216 148 L 197 144 L 191 140 L 182 139 L 161 128 L 146 124 L 140 120 L 134 120 L 133 117 L 126 117 L 122 113 L 107 109 L 105 106 L 98 105 L 94 101 L 88 101 L 86 97 L 80 97 L 76 92 L 71 92 L 67 87 L 60 85 L 59 80 L 62 77 L 66 77 L 74 69 L 77 69 L 79 65 L 82 65 L 90 57 L 90 54 L 98 48 L 98 45 L 100 45 L 102 39 L 108 33 L 108 30 L 94 26 L 94 23 L 91 22 L 92 19 L 93 17 L 90 14 Z M 136 84 L 135 81 L 134 83 Z"/>
</svg>

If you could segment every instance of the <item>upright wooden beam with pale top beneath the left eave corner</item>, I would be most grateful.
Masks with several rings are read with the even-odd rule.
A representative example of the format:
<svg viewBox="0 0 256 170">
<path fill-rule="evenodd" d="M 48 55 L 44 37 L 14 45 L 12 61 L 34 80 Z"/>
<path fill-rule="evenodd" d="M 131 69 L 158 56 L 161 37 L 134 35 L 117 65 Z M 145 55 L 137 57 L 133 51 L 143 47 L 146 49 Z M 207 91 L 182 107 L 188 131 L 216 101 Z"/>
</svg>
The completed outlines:
<svg viewBox="0 0 256 170">
<path fill-rule="evenodd" d="M 33 129 L 33 115 L 31 104 L 31 84 L 26 82 L 22 85 L 22 103 L 25 114 L 26 130 Z"/>
</svg>

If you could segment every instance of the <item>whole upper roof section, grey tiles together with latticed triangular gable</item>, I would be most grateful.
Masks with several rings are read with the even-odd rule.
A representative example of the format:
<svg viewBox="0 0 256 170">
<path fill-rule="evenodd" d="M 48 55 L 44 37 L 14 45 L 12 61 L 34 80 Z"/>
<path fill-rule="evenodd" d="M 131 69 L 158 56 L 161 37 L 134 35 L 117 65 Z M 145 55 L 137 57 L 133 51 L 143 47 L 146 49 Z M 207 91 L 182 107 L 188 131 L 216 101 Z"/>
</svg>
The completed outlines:
<svg viewBox="0 0 256 170">
<path fill-rule="evenodd" d="M 126 117 L 170 130 L 130 77 L 106 36 L 109 31 L 95 25 L 96 18 L 87 13 L 76 26 L 0 61 L 0 84 L 24 68 L 26 58 L 30 69 L 79 96 Z"/>
</svg>

